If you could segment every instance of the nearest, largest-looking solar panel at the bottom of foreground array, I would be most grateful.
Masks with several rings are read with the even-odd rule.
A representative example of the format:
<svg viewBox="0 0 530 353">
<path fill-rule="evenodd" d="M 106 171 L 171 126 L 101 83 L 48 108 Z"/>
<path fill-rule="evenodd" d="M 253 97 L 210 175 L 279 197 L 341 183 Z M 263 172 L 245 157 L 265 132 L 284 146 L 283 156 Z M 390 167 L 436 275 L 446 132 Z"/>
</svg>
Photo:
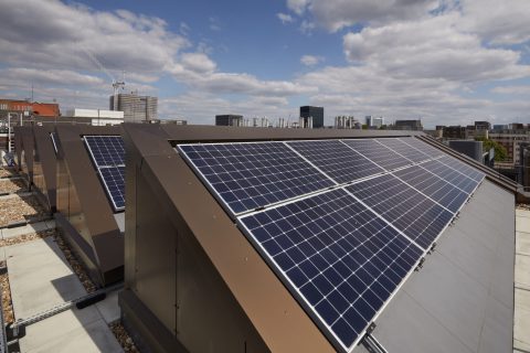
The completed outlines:
<svg viewBox="0 0 530 353">
<path fill-rule="evenodd" d="M 350 352 L 423 252 L 343 189 L 239 220 L 315 323 Z"/>
</svg>

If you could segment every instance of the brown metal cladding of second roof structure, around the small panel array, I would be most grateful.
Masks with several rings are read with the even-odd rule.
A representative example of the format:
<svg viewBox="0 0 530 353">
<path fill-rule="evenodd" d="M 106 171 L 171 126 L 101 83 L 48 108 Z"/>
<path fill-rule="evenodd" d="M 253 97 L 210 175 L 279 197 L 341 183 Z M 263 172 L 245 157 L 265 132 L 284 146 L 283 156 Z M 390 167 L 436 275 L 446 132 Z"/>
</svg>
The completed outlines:
<svg viewBox="0 0 530 353">
<path fill-rule="evenodd" d="M 120 135 L 119 127 L 57 125 L 61 141 L 57 211 L 91 245 L 102 274 L 99 285 L 123 279 L 124 237 L 96 170 L 82 141 L 84 135 Z M 83 247 L 80 247 L 83 250 Z M 89 257 L 89 256 L 88 256 Z"/>
</svg>

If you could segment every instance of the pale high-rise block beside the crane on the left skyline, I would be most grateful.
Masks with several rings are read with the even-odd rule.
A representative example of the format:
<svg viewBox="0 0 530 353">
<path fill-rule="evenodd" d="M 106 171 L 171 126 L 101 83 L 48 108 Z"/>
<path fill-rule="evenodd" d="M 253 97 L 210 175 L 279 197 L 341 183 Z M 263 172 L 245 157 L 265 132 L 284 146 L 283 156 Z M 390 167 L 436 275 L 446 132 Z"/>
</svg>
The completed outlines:
<svg viewBox="0 0 530 353">
<path fill-rule="evenodd" d="M 117 101 L 115 101 L 115 99 Z M 124 111 L 125 122 L 142 122 L 158 119 L 158 98 L 137 94 L 110 96 L 110 110 Z"/>
</svg>

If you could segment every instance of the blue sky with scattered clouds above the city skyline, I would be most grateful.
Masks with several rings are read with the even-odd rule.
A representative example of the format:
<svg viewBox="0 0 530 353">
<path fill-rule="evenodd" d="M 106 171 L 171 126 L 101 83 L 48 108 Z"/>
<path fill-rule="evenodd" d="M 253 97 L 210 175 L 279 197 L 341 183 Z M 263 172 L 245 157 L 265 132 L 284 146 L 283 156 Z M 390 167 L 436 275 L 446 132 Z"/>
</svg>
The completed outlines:
<svg viewBox="0 0 530 353">
<path fill-rule="evenodd" d="M 189 124 L 530 122 L 529 19 L 530 0 L 0 0 L 0 97 L 107 109 L 125 77 Z"/>
</svg>

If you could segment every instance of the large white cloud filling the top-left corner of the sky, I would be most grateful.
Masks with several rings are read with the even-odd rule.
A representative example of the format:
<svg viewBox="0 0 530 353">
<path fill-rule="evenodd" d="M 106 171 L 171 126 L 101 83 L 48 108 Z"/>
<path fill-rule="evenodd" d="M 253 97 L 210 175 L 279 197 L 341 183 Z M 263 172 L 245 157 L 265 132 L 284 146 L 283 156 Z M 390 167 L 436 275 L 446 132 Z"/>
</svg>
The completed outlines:
<svg viewBox="0 0 530 353">
<path fill-rule="evenodd" d="M 190 45 L 168 31 L 161 19 L 125 10 L 98 12 L 54 0 L 1 1 L 0 33 L 4 64 L 98 69 L 86 49 L 115 74 L 160 73 Z"/>
</svg>

